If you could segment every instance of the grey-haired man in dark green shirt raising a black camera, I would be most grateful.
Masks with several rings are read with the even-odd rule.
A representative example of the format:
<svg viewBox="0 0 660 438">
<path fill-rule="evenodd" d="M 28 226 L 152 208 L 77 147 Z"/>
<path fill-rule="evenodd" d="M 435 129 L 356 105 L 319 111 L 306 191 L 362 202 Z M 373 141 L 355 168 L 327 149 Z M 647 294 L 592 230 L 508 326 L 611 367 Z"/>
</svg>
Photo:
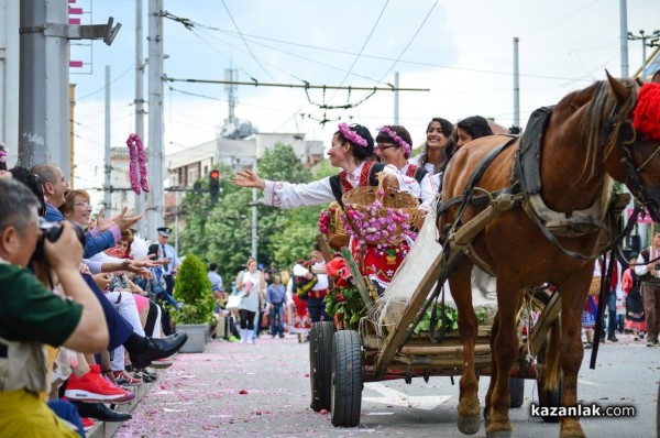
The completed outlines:
<svg viewBox="0 0 660 438">
<path fill-rule="evenodd" d="M 44 239 L 36 197 L 0 178 L 0 435 L 76 437 L 38 395 L 47 392 L 45 344 L 94 353 L 108 346 L 103 310 L 79 274 L 82 245 L 73 225 Z M 40 248 L 67 298 L 25 267 Z"/>
</svg>

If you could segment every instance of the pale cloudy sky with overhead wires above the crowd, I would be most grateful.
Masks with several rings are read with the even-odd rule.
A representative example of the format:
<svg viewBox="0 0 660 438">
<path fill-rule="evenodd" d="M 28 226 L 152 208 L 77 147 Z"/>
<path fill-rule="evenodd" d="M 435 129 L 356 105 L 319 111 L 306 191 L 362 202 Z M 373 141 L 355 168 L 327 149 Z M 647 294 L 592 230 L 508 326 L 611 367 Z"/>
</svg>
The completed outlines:
<svg viewBox="0 0 660 438">
<path fill-rule="evenodd" d="M 660 29 L 660 1 L 628 0 L 628 30 Z M 77 6 L 89 11 L 90 0 Z M 94 23 L 109 15 L 122 23 L 112 46 L 72 47 L 86 63 L 72 69 L 76 84 L 77 187 L 102 184 L 105 66 L 111 66 L 112 144 L 134 131 L 135 1 L 95 1 Z M 144 10 L 144 56 L 148 53 Z M 455 122 L 482 114 L 509 127 L 514 122 L 513 39 L 520 61 L 520 123 L 543 105 L 605 77 L 622 73 L 619 1 L 477 0 L 165 0 L 165 74 L 173 78 L 223 79 L 226 68 L 239 80 L 327 86 L 430 88 L 399 95 L 399 123 L 416 145 L 432 117 Z M 84 18 L 89 22 L 89 17 Z M 629 72 L 641 64 L 641 42 L 629 42 Z M 650 54 L 651 48 L 647 50 Z M 76 72 L 92 74 L 75 74 Z M 174 90 L 169 90 L 169 87 Z M 147 81 L 144 83 L 145 98 Z M 199 96 L 193 96 L 199 95 Z M 319 105 L 358 103 L 365 91 L 238 88 L 237 116 L 261 132 L 301 132 L 330 144 L 337 119 L 375 130 L 393 123 L 394 95 L 378 91 L 350 110 Z M 222 85 L 165 84 L 166 152 L 179 152 L 215 138 L 228 114 Z M 318 119 L 331 119 L 326 127 Z M 351 119 L 352 118 L 352 119 Z M 145 127 L 148 123 L 145 120 Z"/>
</svg>

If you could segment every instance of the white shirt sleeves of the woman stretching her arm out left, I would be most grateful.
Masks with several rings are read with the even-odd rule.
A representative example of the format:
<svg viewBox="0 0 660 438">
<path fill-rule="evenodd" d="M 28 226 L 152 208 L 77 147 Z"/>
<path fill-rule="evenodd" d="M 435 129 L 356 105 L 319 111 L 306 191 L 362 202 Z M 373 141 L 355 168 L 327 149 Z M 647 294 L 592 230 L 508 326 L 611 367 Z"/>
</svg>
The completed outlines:
<svg viewBox="0 0 660 438">
<path fill-rule="evenodd" d="M 363 167 L 364 162 L 360 163 L 360 165 L 348 175 L 346 179 L 353 188 L 360 185 L 360 175 L 362 174 Z M 420 197 L 421 189 L 419 183 L 417 183 L 415 178 L 403 175 L 392 165 L 385 166 L 383 172 L 396 176 L 400 191 L 409 193 L 417 198 Z M 264 197 L 261 201 L 267 206 L 294 208 L 318 206 L 332 202 L 333 200 L 337 199 L 330 187 L 330 177 L 328 176 L 309 184 L 292 184 L 266 179 Z"/>
</svg>

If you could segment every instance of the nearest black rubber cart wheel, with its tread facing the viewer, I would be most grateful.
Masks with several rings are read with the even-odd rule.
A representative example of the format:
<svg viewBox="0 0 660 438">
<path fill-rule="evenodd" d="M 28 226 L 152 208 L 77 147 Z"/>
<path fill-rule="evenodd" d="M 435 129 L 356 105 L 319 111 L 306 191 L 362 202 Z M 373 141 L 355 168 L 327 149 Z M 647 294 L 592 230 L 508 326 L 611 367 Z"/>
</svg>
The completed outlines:
<svg viewBox="0 0 660 438">
<path fill-rule="evenodd" d="M 360 335 L 354 330 L 334 333 L 332 353 L 332 426 L 355 427 L 362 408 L 362 358 Z"/>
</svg>

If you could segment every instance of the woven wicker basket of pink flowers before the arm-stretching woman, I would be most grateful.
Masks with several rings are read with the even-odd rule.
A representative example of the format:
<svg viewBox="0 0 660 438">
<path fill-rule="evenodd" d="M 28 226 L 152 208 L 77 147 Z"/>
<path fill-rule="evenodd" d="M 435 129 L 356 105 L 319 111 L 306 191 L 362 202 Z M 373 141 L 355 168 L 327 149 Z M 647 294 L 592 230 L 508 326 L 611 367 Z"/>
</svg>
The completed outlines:
<svg viewBox="0 0 660 438">
<path fill-rule="evenodd" d="M 345 218 L 349 223 L 346 227 L 351 227 L 362 240 L 371 244 L 398 244 L 405 239 L 405 230 L 409 229 L 409 226 L 415 223 L 419 210 L 419 199 L 410 194 L 400 193 L 398 190 L 392 190 L 383 187 L 383 177 L 378 177 L 377 187 L 356 187 L 351 191 L 344 194 L 342 198 L 345 211 Z M 373 208 L 374 202 L 380 202 L 377 208 Z M 404 213 L 407 216 L 405 222 L 392 222 L 389 220 L 389 213 L 387 210 L 391 209 L 397 213 Z M 367 218 L 382 219 L 386 218 L 387 221 L 377 227 L 370 227 L 367 229 L 360 229 L 356 221 L 351 217 L 351 210 L 359 211 L 366 215 Z M 374 211 L 375 210 L 375 211 Z M 395 230 L 389 231 L 387 237 L 380 238 L 378 233 L 383 232 L 386 227 L 394 225 Z M 394 240 L 392 236 L 396 236 Z"/>
</svg>

